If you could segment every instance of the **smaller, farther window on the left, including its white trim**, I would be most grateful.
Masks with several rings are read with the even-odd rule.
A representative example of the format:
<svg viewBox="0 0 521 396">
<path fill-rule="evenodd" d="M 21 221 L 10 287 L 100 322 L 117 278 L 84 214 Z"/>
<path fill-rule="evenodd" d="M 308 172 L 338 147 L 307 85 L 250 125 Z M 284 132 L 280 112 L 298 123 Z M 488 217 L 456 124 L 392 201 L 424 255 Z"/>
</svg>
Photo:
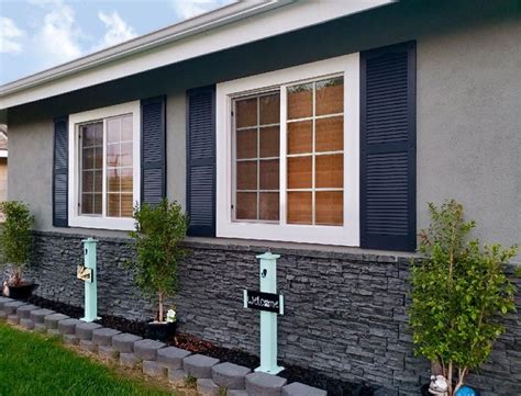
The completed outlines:
<svg viewBox="0 0 521 396">
<path fill-rule="evenodd" d="M 71 226 L 130 229 L 138 202 L 138 105 L 70 116 Z"/>
</svg>

